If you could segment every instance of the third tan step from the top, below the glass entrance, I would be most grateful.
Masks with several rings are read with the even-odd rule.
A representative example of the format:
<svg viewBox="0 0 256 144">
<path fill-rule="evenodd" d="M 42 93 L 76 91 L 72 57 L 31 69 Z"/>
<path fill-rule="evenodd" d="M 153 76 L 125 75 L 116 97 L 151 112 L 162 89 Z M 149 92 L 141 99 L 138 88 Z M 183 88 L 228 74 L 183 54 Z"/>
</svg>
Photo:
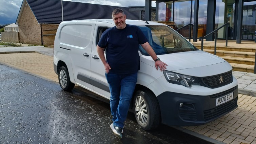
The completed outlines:
<svg viewBox="0 0 256 144">
<path fill-rule="evenodd" d="M 248 65 L 255 64 L 254 58 L 241 58 L 241 57 L 229 57 L 229 56 L 219 56 L 219 57 L 228 61 L 229 63 L 248 64 Z"/>
</svg>

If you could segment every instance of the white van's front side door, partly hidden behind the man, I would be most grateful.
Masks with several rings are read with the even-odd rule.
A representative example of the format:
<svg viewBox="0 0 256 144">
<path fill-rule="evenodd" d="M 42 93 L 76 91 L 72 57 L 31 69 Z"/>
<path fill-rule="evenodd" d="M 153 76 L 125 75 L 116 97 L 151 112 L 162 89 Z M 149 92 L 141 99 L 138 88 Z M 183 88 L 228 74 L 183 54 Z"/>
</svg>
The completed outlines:
<svg viewBox="0 0 256 144">
<path fill-rule="evenodd" d="M 95 37 L 93 39 L 92 53 L 91 53 L 91 84 L 93 85 L 93 90 L 97 91 L 103 97 L 110 99 L 109 84 L 107 83 L 105 77 L 105 68 L 101 62 L 99 55 L 97 53 L 97 44 L 101 37 L 101 34 L 110 27 L 115 26 L 111 23 L 97 22 L 95 25 Z M 105 55 L 106 57 L 106 55 Z"/>
</svg>

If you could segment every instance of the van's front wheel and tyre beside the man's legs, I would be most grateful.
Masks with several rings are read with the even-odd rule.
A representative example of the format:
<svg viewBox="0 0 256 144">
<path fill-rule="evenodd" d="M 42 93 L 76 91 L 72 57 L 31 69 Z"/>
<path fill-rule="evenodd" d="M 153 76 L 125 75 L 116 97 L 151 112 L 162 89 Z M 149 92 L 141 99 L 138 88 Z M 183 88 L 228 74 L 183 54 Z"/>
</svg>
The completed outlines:
<svg viewBox="0 0 256 144">
<path fill-rule="evenodd" d="M 135 118 L 142 129 L 152 130 L 158 127 L 161 121 L 161 113 L 157 98 L 151 91 L 136 91 L 133 105 Z"/>
</svg>

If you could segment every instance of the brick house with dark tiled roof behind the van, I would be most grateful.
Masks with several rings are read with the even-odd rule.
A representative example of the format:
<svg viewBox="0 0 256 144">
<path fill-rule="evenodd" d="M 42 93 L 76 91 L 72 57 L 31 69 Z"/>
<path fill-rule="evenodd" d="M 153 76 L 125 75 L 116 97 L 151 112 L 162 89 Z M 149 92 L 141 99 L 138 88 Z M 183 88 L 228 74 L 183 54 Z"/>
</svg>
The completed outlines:
<svg viewBox="0 0 256 144">
<path fill-rule="evenodd" d="M 121 8 L 127 19 L 139 20 L 138 11 L 90 3 L 62 1 L 63 20 L 111 19 L 115 8 Z M 23 0 L 16 20 L 21 43 L 53 45 L 55 34 L 62 22 L 61 0 Z"/>
</svg>

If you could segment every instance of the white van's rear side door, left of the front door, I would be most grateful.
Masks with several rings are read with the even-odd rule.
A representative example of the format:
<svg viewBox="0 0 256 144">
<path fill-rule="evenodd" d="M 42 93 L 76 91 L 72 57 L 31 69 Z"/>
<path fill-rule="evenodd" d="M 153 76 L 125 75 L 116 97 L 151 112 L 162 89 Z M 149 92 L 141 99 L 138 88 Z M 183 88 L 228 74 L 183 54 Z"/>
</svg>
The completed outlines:
<svg viewBox="0 0 256 144">
<path fill-rule="evenodd" d="M 92 90 L 90 58 L 95 24 L 94 21 L 76 22 L 73 40 L 74 49 L 71 56 L 76 84 L 90 90 Z"/>
</svg>

